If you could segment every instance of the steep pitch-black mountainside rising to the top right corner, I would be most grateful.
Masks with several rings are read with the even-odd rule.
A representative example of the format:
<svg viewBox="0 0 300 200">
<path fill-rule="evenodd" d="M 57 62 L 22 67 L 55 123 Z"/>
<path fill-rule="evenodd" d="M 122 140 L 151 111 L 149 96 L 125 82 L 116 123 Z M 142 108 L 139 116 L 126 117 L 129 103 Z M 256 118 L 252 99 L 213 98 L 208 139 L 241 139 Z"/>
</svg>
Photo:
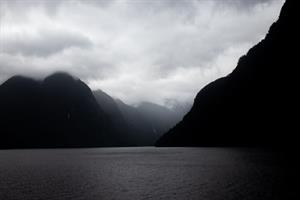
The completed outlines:
<svg viewBox="0 0 300 200">
<path fill-rule="evenodd" d="M 298 4 L 287 0 L 265 39 L 205 86 L 157 146 L 283 146 L 297 133 Z"/>
</svg>

